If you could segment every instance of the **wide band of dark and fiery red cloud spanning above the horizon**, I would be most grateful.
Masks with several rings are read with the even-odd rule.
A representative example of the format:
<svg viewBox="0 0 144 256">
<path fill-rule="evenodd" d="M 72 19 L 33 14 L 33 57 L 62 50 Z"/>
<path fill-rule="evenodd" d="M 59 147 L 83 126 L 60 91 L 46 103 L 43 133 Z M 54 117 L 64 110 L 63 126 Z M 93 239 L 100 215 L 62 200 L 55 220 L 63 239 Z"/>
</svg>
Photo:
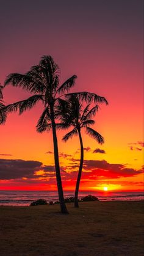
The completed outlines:
<svg viewBox="0 0 144 256">
<path fill-rule="evenodd" d="M 74 185 L 79 169 L 79 159 L 71 158 L 71 162 L 66 167 L 62 166 L 60 172 L 63 181 L 68 183 L 71 181 L 70 185 Z M 134 177 L 142 173 L 143 167 L 140 170 L 135 170 L 126 167 L 126 164 L 110 164 L 106 160 L 84 160 L 82 180 L 84 182 L 112 180 L 121 177 Z M 0 180 L 1 182 L 2 180 L 20 182 L 21 180 L 24 184 L 28 181 L 35 183 L 35 180 L 39 180 L 41 184 L 46 181 L 46 184 L 52 185 L 56 181 L 56 172 L 54 165 L 43 165 L 39 161 L 0 159 Z"/>
</svg>

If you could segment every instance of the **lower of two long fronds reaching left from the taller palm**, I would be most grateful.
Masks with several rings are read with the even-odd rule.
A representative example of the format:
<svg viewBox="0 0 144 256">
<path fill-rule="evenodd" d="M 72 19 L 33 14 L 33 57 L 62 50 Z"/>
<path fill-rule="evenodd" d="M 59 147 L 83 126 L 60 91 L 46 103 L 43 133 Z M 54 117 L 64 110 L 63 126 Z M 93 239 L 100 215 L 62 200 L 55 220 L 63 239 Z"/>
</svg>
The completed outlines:
<svg viewBox="0 0 144 256">
<path fill-rule="evenodd" d="M 12 104 L 7 105 L 5 108 L 8 112 L 16 112 L 19 110 L 19 114 L 22 114 L 27 109 L 31 109 L 39 101 L 43 101 L 42 95 L 33 95 L 26 100 L 21 100 Z"/>
</svg>

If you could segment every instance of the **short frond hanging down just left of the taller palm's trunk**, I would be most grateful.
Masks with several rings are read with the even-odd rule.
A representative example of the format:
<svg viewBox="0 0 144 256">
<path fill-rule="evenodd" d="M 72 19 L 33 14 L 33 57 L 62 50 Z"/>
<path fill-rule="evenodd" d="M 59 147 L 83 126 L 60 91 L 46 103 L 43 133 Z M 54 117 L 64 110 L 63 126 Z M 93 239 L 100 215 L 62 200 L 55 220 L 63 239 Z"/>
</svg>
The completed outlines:
<svg viewBox="0 0 144 256">
<path fill-rule="evenodd" d="M 43 113 L 40 116 L 40 119 L 37 122 L 37 131 L 38 133 L 42 133 L 43 131 L 50 130 L 51 126 L 48 124 L 48 122 L 51 120 L 51 116 L 49 114 L 48 107 L 43 111 Z"/>
</svg>

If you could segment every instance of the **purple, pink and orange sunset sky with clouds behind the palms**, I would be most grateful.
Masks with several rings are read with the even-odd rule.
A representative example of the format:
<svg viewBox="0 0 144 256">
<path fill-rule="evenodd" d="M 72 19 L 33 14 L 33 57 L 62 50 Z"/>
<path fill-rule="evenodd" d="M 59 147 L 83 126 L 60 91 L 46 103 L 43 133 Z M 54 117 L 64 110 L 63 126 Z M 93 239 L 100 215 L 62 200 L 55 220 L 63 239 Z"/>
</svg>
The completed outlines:
<svg viewBox="0 0 144 256">
<path fill-rule="evenodd" d="M 143 190 L 143 0 L 1 0 L 0 82 L 51 55 L 61 82 L 77 75 L 71 92 L 106 97 L 96 115 L 98 145 L 84 132 L 81 190 Z M 5 104 L 29 94 L 5 87 Z M 0 190 L 56 189 L 52 134 L 35 130 L 43 106 L 9 114 L 0 126 Z M 74 189 L 79 138 L 57 134 L 63 189 Z"/>
</svg>

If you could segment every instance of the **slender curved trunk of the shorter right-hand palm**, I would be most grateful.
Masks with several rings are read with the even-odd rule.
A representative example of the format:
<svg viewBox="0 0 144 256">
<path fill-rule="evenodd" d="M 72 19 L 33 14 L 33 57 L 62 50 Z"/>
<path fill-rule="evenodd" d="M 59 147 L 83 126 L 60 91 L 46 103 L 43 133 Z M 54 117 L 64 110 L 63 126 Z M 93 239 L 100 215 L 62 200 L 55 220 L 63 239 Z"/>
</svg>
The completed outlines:
<svg viewBox="0 0 144 256">
<path fill-rule="evenodd" d="M 82 166 L 83 166 L 83 162 L 84 162 L 84 147 L 83 147 L 83 143 L 82 143 L 81 131 L 78 130 L 78 133 L 79 133 L 79 141 L 81 144 L 81 159 L 80 159 L 79 172 L 78 172 L 77 181 L 76 181 L 76 190 L 75 190 L 75 194 L 74 194 L 74 207 L 79 207 L 78 193 L 79 193 L 79 184 L 80 184 L 81 175 L 82 175 Z"/>
</svg>

